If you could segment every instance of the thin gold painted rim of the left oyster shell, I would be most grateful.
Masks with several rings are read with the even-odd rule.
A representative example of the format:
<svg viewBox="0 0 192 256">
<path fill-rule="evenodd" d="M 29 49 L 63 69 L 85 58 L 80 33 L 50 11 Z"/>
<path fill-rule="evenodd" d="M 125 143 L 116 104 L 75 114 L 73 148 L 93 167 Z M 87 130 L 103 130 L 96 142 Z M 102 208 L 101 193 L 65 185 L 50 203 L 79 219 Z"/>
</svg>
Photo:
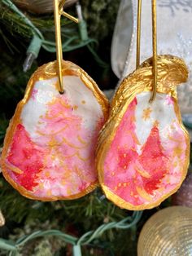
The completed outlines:
<svg viewBox="0 0 192 256">
<path fill-rule="evenodd" d="M 72 69 L 70 69 L 72 68 Z M 98 100 L 98 104 L 100 104 L 103 108 L 103 114 L 105 117 L 105 120 L 107 120 L 108 117 L 108 108 L 109 108 L 109 103 L 106 98 L 106 96 L 103 94 L 101 90 L 99 90 L 98 85 L 94 80 L 89 77 L 85 71 L 77 66 L 76 64 L 73 64 L 70 61 L 64 61 L 63 60 L 63 76 L 68 73 L 68 70 L 72 70 L 72 75 L 78 76 L 81 78 L 82 82 L 84 82 L 85 86 L 89 88 L 89 90 L 92 90 L 94 93 L 95 98 Z M 8 183 L 11 183 L 12 187 L 15 188 L 18 192 L 20 192 L 21 195 L 33 199 L 33 200 L 38 200 L 38 201 L 57 201 L 57 200 L 72 200 L 72 199 L 77 199 L 80 198 L 81 196 L 85 196 L 89 192 L 94 191 L 95 188 L 98 187 L 98 181 L 94 183 L 90 183 L 89 187 L 84 190 L 84 192 L 77 193 L 72 196 L 52 196 L 51 198 L 48 197 L 38 197 L 38 196 L 33 196 L 33 192 L 30 193 L 28 192 L 25 188 L 21 187 L 19 184 L 15 183 L 13 179 L 11 179 L 10 175 L 7 173 L 7 164 L 6 164 L 6 157 L 7 157 L 7 152 L 9 149 L 9 145 L 11 143 L 15 127 L 20 123 L 20 113 L 22 112 L 22 109 L 24 107 L 24 104 L 28 102 L 28 99 L 30 98 L 33 90 L 33 86 L 37 81 L 40 80 L 46 80 L 56 77 L 56 72 L 55 72 L 55 62 L 50 62 L 48 64 L 44 64 L 41 67 L 37 68 L 37 70 L 33 73 L 32 77 L 28 81 L 28 85 L 25 90 L 24 94 L 24 99 L 22 99 L 19 104 L 17 104 L 17 107 L 15 109 L 15 114 L 11 118 L 10 124 L 7 127 L 7 134 L 4 139 L 4 145 L 2 148 L 2 174 L 5 179 L 7 179 Z"/>
</svg>

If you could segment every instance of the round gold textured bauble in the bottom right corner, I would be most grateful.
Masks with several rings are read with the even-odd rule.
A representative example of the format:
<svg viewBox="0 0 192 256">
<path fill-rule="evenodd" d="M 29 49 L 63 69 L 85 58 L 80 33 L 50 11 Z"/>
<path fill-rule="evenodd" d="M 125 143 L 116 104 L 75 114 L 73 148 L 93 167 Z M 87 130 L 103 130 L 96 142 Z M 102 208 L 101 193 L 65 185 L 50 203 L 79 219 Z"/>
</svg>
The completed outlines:
<svg viewBox="0 0 192 256">
<path fill-rule="evenodd" d="M 142 227 L 137 256 L 192 256 L 192 209 L 159 210 Z"/>
</svg>

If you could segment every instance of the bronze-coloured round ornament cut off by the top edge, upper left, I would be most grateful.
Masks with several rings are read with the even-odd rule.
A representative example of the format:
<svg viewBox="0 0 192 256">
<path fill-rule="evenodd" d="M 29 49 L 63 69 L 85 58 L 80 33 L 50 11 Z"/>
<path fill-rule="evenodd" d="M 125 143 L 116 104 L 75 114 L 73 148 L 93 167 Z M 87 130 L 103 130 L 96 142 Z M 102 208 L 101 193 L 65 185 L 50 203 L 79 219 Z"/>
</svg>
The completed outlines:
<svg viewBox="0 0 192 256">
<path fill-rule="evenodd" d="M 17 7 L 36 14 L 45 14 L 54 10 L 53 0 L 14 0 L 13 2 Z M 66 0 L 64 8 L 70 7 L 75 2 L 77 0 Z"/>
</svg>

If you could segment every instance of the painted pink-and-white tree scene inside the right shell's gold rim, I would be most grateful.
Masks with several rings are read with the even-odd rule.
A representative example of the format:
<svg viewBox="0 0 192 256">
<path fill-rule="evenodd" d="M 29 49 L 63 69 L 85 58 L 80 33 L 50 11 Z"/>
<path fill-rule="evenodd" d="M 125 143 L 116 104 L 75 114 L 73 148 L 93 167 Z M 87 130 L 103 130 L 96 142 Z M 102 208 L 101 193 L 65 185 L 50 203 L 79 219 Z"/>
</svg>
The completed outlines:
<svg viewBox="0 0 192 256">
<path fill-rule="evenodd" d="M 150 92 L 144 92 L 129 104 L 103 163 L 105 188 L 118 196 L 116 202 L 123 200 L 133 207 L 160 201 L 174 191 L 181 184 L 186 161 L 187 143 L 174 100 L 158 94 L 150 105 L 149 97 Z M 168 121 L 159 114 L 166 109 Z"/>
</svg>

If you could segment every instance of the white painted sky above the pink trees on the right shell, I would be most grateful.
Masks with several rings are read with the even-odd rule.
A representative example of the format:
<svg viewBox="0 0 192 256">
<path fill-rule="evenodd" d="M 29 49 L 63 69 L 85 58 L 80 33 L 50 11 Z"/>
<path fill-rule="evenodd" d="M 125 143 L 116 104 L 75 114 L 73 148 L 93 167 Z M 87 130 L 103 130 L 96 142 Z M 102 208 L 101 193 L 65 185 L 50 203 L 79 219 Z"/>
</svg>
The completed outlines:
<svg viewBox="0 0 192 256">
<path fill-rule="evenodd" d="M 157 93 L 153 103 L 149 103 L 150 98 L 151 92 L 142 92 L 137 95 L 135 124 L 137 138 L 142 145 L 146 143 L 146 139 L 149 137 L 155 121 L 158 121 L 159 135 L 162 143 L 166 142 L 168 138 L 170 126 L 175 123 L 178 124 L 174 104 L 169 95 Z M 143 111 L 146 109 L 150 110 L 149 118 L 144 118 L 143 116 Z M 177 126 L 174 127 L 177 129 Z"/>
</svg>

